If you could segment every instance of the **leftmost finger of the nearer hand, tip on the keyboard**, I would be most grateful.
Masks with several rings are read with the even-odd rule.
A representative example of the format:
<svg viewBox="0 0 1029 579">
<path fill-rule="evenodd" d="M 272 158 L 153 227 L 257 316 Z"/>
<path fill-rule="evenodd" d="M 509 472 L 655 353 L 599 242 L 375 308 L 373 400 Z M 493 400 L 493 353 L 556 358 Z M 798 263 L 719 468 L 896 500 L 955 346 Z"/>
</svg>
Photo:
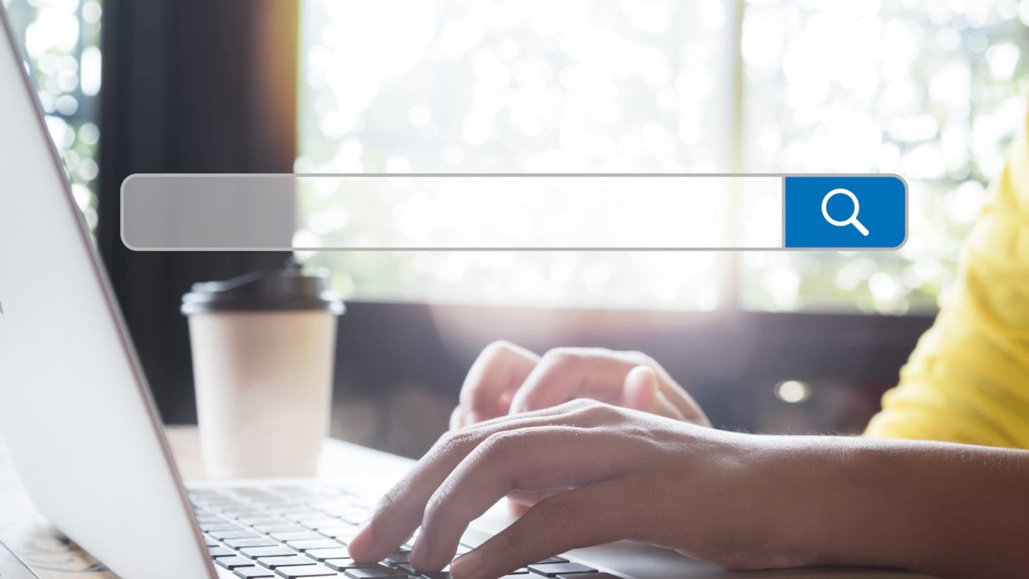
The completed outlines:
<svg viewBox="0 0 1029 579">
<path fill-rule="evenodd" d="M 501 418 L 452 431 L 439 438 L 404 477 L 379 501 L 371 517 L 348 544 L 357 562 L 377 562 L 393 552 L 418 528 L 425 505 L 468 453 L 492 434 L 553 424 L 576 424 L 580 403 L 536 410 L 517 419 Z M 586 423 L 582 423 L 586 424 Z"/>
</svg>

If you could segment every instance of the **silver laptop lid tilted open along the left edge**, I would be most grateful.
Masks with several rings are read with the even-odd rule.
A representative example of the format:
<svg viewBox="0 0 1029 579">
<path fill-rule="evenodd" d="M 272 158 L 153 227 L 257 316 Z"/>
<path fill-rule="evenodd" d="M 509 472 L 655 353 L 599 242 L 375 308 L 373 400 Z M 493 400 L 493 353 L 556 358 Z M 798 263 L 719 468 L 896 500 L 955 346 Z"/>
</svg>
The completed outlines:
<svg viewBox="0 0 1029 579">
<path fill-rule="evenodd" d="M 37 508 L 122 577 L 214 577 L 2 6 L 0 304 L 0 435 Z"/>
</svg>

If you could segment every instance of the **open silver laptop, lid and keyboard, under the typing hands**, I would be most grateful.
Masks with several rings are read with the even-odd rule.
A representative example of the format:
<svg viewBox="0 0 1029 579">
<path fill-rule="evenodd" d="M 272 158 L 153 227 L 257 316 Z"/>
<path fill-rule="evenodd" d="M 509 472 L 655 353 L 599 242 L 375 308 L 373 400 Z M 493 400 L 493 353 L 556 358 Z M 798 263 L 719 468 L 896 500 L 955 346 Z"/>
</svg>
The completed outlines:
<svg viewBox="0 0 1029 579">
<path fill-rule="evenodd" d="M 346 551 L 406 459 L 348 446 L 361 467 L 350 479 L 183 483 L 2 8 L 0 21 L 0 435 L 37 509 L 129 579 L 422 577 L 406 549 L 372 567 Z M 495 507 L 461 549 L 509 521 Z M 629 542 L 521 571 L 522 579 L 741 575 Z"/>
</svg>

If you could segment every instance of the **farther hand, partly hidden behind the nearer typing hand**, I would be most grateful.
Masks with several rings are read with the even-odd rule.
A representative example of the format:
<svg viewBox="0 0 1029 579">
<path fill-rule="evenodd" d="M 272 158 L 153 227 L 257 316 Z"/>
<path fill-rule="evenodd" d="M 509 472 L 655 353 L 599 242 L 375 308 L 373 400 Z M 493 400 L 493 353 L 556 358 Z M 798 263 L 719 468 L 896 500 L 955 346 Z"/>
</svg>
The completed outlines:
<svg viewBox="0 0 1029 579">
<path fill-rule="evenodd" d="M 513 343 L 495 341 L 468 370 L 451 429 L 576 398 L 711 426 L 689 394 L 640 352 L 560 348 L 540 357 Z"/>
</svg>

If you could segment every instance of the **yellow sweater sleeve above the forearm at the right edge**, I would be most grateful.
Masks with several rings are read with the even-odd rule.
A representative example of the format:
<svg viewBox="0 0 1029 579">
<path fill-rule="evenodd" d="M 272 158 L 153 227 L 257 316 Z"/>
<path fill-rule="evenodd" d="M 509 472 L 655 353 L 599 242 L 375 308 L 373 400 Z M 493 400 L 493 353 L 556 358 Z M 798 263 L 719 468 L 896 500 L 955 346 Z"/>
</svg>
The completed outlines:
<svg viewBox="0 0 1029 579">
<path fill-rule="evenodd" d="M 1029 448 L 1029 128 L 866 436 Z"/>
</svg>

